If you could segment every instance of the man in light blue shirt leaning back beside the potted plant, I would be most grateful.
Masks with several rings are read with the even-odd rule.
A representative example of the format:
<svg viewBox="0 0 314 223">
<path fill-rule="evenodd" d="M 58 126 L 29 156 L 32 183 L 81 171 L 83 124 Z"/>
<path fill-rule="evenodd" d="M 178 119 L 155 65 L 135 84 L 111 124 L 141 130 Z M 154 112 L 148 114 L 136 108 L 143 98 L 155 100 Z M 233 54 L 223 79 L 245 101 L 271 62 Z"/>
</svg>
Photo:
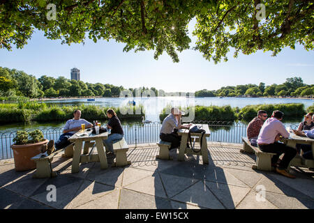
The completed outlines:
<svg viewBox="0 0 314 223">
<path fill-rule="evenodd" d="M 50 140 L 42 152 L 45 153 L 45 151 L 47 150 L 47 154 L 50 155 L 54 151 L 70 145 L 70 141 L 68 141 L 68 138 L 70 138 L 77 131 L 81 130 L 82 124 L 85 124 L 85 128 L 91 128 L 94 126 L 92 123 L 89 123 L 85 119 L 81 118 L 81 114 L 82 113 L 80 110 L 75 110 L 73 112 L 74 118 L 66 121 L 66 125 L 63 128 L 63 134 L 61 134 L 58 141 L 54 144 L 54 140 Z"/>
</svg>

